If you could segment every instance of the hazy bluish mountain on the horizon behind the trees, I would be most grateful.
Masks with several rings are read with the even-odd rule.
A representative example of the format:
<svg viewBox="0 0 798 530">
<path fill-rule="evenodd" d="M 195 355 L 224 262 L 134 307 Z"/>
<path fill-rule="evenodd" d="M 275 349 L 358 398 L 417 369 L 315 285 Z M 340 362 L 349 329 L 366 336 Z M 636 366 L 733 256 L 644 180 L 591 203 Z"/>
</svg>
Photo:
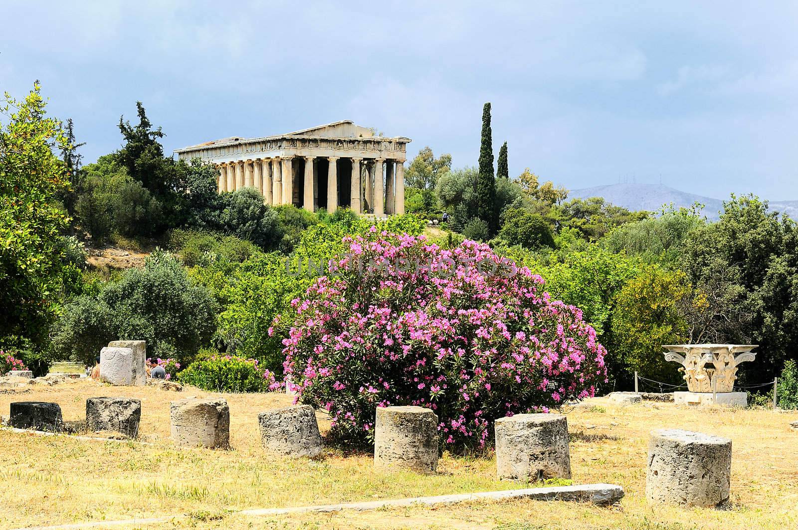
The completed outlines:
<svg viewBox="0 0 798 530">
<path fill-rule="evenodd" d="M 678 189 L 669 188 L 662 184 L 609 184 L 572 190 L 569 199 L 587 199 L 589 197 L 603 197 L 604 200 L 622 206 L 629 210 L 647 210 L 657 212 L 663 204 L 674 204 L 674 208 L 689 208 L 694 203 L 705 205 L 704 215 L 709 220 L 717 220 L 723 210 L 723 201 L 694 195 L 693 193 L 680 192 Z M 784 212 L 792 219 L 798 219 L 798 200 L 772 200 L 769 201 L 770 209 Z"/>
</svg>

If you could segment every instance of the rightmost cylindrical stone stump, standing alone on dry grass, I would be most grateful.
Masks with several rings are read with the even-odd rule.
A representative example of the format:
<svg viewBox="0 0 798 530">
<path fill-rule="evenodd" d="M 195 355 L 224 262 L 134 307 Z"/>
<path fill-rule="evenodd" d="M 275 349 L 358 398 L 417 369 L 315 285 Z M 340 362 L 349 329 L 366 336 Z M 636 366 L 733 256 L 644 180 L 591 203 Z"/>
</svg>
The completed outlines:
<svg viewBox="0 0 798 530">
<path fill-rule="evenodd" d="M 651 433 L 646 499 L 652 503 L 722 506 L 729 500 L 732 441 L 681 429 Z"/>
</svg>

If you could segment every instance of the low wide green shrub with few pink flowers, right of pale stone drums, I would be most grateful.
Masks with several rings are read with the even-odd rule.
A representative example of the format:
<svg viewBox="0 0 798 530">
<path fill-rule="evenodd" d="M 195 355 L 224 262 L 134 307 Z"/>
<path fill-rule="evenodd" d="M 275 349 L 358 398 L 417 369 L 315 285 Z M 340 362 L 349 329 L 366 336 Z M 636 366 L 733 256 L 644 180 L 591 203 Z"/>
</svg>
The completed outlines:
<svg viewBox="0 0 798 530">
<path fill-rule="evenodd" d="M 213 392 L 266 392 L 279 387 L 274 374 L 261 368 L 256 359 L 232 355 L 192 362 L 177 374 L 177 379 L 184 385 Z"/>
</svg>

